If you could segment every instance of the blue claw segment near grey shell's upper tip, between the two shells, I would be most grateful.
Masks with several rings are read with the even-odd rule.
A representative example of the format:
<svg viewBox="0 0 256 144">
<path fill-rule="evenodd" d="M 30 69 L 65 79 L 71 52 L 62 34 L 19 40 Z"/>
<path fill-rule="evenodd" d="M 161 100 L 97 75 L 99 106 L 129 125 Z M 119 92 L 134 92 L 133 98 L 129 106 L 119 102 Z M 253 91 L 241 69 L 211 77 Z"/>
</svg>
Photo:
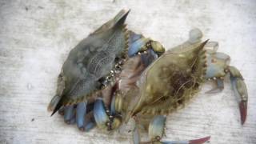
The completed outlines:
<svg viewBox="0 0 256 144">
<path fill-rule="evenodd" d="M 128 56 L 133 57 L 134 54 L 137 54 L 139 51 L 142 51 L 146 43 L 150 41 L 150 38 L 140 38 L 135 42 L 132 42 L 129 46 Z"/>
</svg>

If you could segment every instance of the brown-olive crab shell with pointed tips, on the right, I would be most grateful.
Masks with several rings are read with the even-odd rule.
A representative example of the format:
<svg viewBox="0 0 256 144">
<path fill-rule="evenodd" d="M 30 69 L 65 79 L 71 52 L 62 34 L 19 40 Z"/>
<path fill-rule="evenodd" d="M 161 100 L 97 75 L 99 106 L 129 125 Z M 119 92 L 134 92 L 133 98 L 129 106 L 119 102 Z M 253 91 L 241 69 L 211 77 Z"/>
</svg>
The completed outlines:
<svg viewBox="0 0 256 144">
<path fill-rule="evenodd" d="M 129 106 L 129 115 L 169 114 L 184 106 L 204 80 L 206 42 L 180 52 L 168 51 L 153 62 L 138 82 L 139 94 Z"/>
</svg>

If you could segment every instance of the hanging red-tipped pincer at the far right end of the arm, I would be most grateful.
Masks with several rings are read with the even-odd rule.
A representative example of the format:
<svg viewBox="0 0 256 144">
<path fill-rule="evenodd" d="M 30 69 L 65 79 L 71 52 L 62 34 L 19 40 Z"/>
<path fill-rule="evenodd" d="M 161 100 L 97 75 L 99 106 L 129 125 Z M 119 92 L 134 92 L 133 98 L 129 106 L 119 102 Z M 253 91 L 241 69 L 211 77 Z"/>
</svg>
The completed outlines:
<svg viewBox="0 0 256 144">
<path fill-rule="evenodd" d="M 229 66 L 228 69 L 230 71 L 230 81 L 234 89 L 234 94 L 239 98 L 241 123 L 244 124 L 246 122 L 248 101 L 246 83 L 243 81 L 242 74 L 240 74 L 237 68 Z"/>
</svg>

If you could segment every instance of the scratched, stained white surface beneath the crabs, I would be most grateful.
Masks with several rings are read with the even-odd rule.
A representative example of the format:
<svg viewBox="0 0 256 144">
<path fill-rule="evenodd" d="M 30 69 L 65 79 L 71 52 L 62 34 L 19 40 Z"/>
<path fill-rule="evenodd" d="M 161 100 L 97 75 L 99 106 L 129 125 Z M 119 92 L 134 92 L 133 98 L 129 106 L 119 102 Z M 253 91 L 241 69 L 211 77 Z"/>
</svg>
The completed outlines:
<svg viewBox="0 0 256 144">
<path fill-rule="evenodd" d="M 222 93 L 204 94 L 167 118 L 168 140 L 211 135 L 213 144 L 256 143 L 256 2 L 147 0 L 0 0 L 0 143 L 131 143 L 130 134 L 80 132 L 46 106 L 67 54 L 82 38 L 130 8 L 130 30 L 162 42 L 184 42 L 191 28 L 218 41 L 241 70 L 249 93 L 240 125 L 238 102 L 228 81 Z M 34 121 L 32 120 L 34 119 Z M 128 129 L 127 129 L 128 131 Z"/>
</svg>

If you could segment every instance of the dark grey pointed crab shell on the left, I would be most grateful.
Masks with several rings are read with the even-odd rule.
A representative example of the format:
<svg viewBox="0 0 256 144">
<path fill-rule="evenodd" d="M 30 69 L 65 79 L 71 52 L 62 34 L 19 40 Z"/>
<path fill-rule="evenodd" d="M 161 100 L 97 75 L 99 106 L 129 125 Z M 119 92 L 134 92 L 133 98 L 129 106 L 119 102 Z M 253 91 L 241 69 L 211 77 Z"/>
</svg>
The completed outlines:
<svg viewBox="0 0 256 144">
<path fill-rule="evenodd" d="M 128 32 L 124 22 L 128 13 L 120 11 L 70 51 L 59 76 L 57 98 L 49 106 L 50 110 L 54 109 L 55 113 L 63 105 L 87 100 L 100 89 L 99 79 L 110 74 L 118 58 L 126 55 Z"/>
</svg>

